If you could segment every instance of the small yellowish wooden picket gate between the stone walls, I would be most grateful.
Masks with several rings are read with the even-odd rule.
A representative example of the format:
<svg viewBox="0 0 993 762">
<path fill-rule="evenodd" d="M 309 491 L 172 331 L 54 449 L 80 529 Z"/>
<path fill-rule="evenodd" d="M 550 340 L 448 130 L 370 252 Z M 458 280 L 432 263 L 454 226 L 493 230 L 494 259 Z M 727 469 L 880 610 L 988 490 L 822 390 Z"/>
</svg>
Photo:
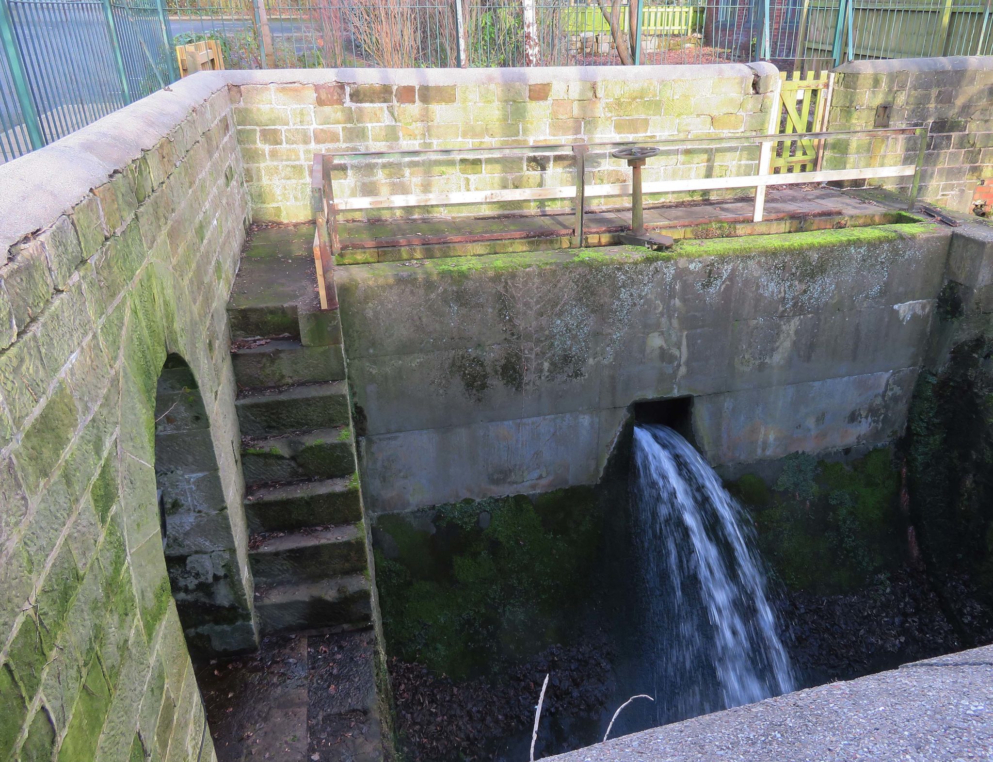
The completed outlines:
<svg viewBox="0 0 993 762">
<path fill-rule="evenodd" d="M 780 118 L 776 131 L 779 135 L 796 137 L 777 144 L 773 173 L 815 172 L 820 169 L 824 141 L 807 139 L 803 135 L 827 129 L 827 107 L 834 75 L 829 72 L 807 72 L 805 75 L 782 72 L 780 77 Z"/>
</svg>

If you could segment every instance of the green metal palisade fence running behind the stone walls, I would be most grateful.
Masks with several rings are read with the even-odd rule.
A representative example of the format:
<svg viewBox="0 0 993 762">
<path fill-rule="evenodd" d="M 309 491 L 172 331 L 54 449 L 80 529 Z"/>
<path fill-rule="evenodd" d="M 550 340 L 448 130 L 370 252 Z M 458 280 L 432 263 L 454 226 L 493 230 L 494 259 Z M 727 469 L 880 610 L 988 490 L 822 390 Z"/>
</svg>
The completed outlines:
<svg viewBox="0 0 993 762">
<path fill-rule="evenodd" d="M 0 0 L 0 160 L 174 81 L 174 47 L 205 40 L 227 69 L 993 55 L 993 0 L 630 2 Z"/>
</svg>

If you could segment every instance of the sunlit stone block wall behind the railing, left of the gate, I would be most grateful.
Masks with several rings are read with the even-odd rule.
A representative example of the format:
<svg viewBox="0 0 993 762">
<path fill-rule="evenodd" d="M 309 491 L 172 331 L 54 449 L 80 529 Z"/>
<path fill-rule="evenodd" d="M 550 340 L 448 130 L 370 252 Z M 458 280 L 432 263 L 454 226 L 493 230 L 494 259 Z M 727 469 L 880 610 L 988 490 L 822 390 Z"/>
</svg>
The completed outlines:
<svg viewBox="0 0 993 762">
<path fill-rule="evenodd" d="M 769 64 L 232 72 L 227 76 L 257 220 L 311 218 L 310 164 L 315 153 L 761 134 L 769 128 L 780 81 Z M 627 164 L 607 156 L 608 150 L 591 153 L 587 184 L 630 181 Z M 650 182 L 751 174 L 757 160 L 755 146 L 666 150 L 649 160 L 643 177 Z M 470 154 L 400 162 L 343 157 L 334 174 L 334 192 L 337 198 L 350 198 L 575 182 L 568 148 L 512 158 Z M 623 202 L 615 198 L 611 203 Z M 571 205 L 571 200 L 542 204 L 544 208 Z M 533 206 L 510 202 L 493 209 Z"/>
</svg>

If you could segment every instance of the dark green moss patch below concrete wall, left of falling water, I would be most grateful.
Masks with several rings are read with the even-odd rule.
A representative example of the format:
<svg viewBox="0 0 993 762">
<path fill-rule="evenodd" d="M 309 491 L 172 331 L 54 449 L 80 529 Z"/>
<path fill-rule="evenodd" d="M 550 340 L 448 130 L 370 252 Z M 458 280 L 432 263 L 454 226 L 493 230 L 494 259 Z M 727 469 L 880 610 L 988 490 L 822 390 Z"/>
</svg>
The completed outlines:
<svg viewBox="0 0 993 762">
<path fill-rule="evenodd" d="M 376 583 L 391 655 L 462 679 L 495 657 L 567 642 L 594 588 L 599 528 L 592 488 L 381 517 Z"/>
</svg>

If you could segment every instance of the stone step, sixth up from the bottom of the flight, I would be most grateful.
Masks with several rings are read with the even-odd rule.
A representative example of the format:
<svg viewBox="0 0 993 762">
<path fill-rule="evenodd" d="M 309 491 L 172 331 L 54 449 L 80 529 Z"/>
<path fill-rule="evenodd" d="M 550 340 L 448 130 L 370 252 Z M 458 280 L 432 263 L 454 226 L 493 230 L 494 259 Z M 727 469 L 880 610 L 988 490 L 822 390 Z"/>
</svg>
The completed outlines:
<svg viewBox="0 0 993 762">
<path fill-rule="evenodd" d="M 265 344 L 233 349 L 231 364 L 240 388 L 341 381 L 345 378 L 345 359 L 340 344 L 305 347 L 299 341 L 272 339 Z"/>
</svg>

